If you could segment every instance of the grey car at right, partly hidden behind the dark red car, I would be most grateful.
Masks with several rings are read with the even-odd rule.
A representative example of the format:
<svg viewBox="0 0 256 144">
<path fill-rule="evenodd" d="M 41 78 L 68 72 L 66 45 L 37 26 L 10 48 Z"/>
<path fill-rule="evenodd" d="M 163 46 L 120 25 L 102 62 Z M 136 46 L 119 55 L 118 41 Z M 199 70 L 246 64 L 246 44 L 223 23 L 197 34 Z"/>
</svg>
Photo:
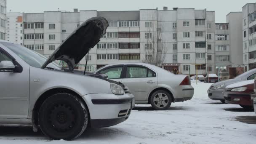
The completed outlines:
<svg viewBox="0 0 256 144">
<path fill-rule="evenodd" d="M 255 76 L 256 76 L 256 69 L 251 69 L 247 72 L 244 72 L 241 75 L 238 75 L 233 79 L 214 83 L 210 86 L 210 88 L 207 91 L 208 97 L 212 100 L 218 100 L 218 101 L 221 101 L 222 103 L 225 103 L 225 99 L 222 93 L 225 91 L 225 88 L 227 85 L 231 85 L 239 81 L 253 80 Z"/>
</svg>

